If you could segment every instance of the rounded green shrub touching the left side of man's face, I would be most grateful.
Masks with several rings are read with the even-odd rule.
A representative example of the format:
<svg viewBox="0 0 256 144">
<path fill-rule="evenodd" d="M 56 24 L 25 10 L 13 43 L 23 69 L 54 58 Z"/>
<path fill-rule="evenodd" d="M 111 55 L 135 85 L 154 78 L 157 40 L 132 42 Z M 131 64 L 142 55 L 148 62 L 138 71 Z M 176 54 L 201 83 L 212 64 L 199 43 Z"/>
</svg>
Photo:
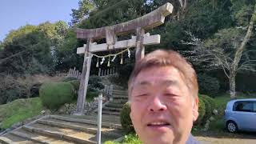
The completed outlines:
<svg viewBox="0 0 256 144">
<path fill-rule="evenodd" d="M 134 126 L 130 119 L 130 103 L 126 102 L 126 104 L 122 107 L 121 113 L 120 113 L 120 121 L 123 130 L 125 130 L 126 133 L 135 132 Z"/>
</svg>

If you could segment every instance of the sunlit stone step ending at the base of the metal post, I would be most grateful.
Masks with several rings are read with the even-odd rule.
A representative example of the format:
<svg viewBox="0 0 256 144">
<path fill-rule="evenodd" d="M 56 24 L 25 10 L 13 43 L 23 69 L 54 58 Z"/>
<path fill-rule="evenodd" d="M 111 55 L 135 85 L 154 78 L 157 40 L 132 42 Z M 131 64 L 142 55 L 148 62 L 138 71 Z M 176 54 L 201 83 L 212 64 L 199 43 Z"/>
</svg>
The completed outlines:
<svg viewBox="0 0 256 144">
<path fill-rule="evenodd" d="M 52 138 L 61 138 L 75 143 L 96 143 L 94 134 L 85 134 L 79 130 L 59 129 L 55 126 L 46 126 L 38 123 L 34 123 L 31 126 L 24 126 L 24 129 L 32 133 L 43 134 Z"/>
</svg>

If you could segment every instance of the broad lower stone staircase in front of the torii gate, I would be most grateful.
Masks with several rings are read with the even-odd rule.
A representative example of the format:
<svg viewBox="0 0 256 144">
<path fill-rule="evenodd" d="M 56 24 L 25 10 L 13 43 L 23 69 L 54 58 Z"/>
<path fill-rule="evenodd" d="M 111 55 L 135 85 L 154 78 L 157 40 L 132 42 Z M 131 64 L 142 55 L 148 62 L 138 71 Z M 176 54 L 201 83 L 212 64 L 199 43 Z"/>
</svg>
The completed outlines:
<svg viewBox="0 0 256 144">
<path fill-rule="evenodd" d="M 96 143 L 97 116 L 50 115 L 0 136 L 0 143 Z M 123 136 L 118 118 L 102 114 L 102 142 Z"/>
</svg>

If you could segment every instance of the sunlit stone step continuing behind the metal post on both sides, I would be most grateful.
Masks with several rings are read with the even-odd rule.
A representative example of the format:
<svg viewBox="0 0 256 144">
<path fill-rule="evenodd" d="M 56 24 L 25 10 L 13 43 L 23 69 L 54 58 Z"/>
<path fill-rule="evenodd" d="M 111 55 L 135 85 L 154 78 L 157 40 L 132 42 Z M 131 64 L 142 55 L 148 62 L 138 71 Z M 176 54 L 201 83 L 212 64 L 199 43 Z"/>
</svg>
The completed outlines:
<svg viewBox="0 0 256 144">
<path fill-rule="evenodd" d="M 48 125 L 48 126 L 57 126 L 60 128 L 68 128 L 73 130 L 82 130 L 86 133 L 97 134 L 97 126 L 83 124 L 80 122 L 65 122 L 62 120 L 48 118 L 46 120 L 39 120 L 38 123 Z M 102 127 L 102 135 L 109 138 L 120 138 L 122 137 L 122 130 L 114 130 L 110 128 Z"/>
</svg>

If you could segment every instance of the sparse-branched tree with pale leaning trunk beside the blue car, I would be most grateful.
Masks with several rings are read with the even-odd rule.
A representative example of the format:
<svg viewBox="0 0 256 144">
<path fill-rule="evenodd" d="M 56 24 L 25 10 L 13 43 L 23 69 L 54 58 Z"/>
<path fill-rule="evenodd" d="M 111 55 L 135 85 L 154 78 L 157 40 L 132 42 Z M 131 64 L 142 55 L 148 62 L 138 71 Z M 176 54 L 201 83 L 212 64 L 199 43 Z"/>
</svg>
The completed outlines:
<svg viewBox="0 0 256 144">
<path fill-rule="evenodd" d="M 247 14 L 244 14 L 247 12 Z M 195 57 L 190 57 L 191 61 L 204 65 L 208 70 L 212 68 L 222 68 L 230 84 L 230 97 L 235 97 L 235 78 L 239 70 L 255 70 L 255 59 L 251 58 L 250 40 L 254 32 L 254 22 L 256 5 L 242 6 L 240 10 L 234 11 L 235 22 L 240 25 L 218 30 L 213 37 L 201 42 L 199 38 L 191 38 L 189 45 L 196 46 L 194 51 L 190 51 Z M 245 16 L 250 15 L 247 21 Z M 246 26 L 247 24 L 247 26 Z M 243 27 L 246 26 L 246 27 Z"/>
</svg>

